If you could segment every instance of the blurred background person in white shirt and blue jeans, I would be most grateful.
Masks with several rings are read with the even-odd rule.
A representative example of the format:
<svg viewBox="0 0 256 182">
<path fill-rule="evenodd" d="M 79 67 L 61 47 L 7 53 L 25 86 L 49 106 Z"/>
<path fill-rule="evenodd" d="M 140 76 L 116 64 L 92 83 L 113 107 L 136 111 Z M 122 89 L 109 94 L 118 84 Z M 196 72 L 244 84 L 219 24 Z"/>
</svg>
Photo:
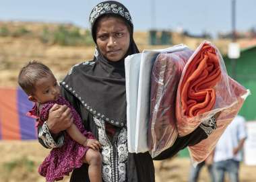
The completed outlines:
<svg viewBox="0 0 256 182">
<path fill-rule="evenodd" d="M 239 181 L 239 165 L 247 138 L 245 118 L 236 116 L 220 137 L 214 150 L 214 175 L 216 182 L 223 182 L 228 173 L 230 182 Z"/>
</svg>

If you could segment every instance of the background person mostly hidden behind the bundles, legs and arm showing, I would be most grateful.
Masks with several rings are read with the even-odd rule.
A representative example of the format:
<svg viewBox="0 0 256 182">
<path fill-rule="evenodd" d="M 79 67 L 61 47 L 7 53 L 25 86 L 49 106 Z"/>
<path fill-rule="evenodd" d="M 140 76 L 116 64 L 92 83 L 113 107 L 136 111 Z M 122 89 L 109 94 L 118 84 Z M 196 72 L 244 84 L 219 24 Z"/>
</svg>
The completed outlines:
<svg viewBox="0 0 256 182">
<path fill-rule="evenodd" d="M 189 175 L 189 182 L 197 182 L 199 179 L 199 173 L 203 166 L 207 167 L 207 170 L 210 175 L 211 182 L 215 182 L 214 178 L 214 169 L 213 169 L 213 162 L 214 162 L 214 152 L 212 152 L 207 158 L 205 158 L 205 161 L 197 164 L 195 167 L 191 165 L 191 171 Z"/>
</svg>

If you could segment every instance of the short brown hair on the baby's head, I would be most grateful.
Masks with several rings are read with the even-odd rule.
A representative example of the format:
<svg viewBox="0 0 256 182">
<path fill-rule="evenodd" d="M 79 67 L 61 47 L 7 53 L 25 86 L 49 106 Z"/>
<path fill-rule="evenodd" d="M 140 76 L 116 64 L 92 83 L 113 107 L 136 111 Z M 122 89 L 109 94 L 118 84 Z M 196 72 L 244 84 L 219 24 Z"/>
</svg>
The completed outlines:
<svg viewBox="0 0 256 182">
<path fill-rule="evenodd" d="M 48 66 L 32 60 L 24 66 L 18 76 L 18 83 L 27 95 L 32 95 L 35 91 L 34 84 L 39 79 L 53 75 Z"/>
</svg>

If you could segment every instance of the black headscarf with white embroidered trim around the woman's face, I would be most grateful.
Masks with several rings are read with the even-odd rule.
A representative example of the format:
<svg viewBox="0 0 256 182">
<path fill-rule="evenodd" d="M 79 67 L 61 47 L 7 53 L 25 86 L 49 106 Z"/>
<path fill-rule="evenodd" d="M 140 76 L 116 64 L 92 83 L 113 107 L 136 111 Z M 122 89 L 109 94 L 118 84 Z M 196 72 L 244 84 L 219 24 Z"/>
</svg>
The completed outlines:
<svg viewBox="0 0 256 182">
<path fill-rule="evenodd" d="M 92 9 L 90 27 L 96 43 L 96 21 L 104 15 L 121 17 L 130 30 L 127 55 L 139 52 L 133 40 L 133 23 L 128 9 L 117 1 L 104 1 Z M 125 57 L 126 57 L 125 56 Z M 96 47 L 92 61 L 76 64 L 61 85 L 81 101 L 94 116 L 115 126 L 126 124 L 125 57 L 111 62 Z"/>
</svg>

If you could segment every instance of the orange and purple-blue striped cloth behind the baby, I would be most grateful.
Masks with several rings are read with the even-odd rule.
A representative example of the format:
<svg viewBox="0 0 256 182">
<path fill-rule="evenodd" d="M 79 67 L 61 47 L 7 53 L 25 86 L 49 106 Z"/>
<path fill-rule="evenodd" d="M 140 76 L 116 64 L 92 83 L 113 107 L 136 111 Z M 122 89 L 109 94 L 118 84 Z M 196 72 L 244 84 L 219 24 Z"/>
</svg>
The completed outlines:
<svg viewBox="0 0 256 182">
<path fill-rule="evenodd" d="M 33 103 L 20 88 L 0 88 L 0 140 L 37 139 L 36 122 L 26 116 Z"/>
</svg>

